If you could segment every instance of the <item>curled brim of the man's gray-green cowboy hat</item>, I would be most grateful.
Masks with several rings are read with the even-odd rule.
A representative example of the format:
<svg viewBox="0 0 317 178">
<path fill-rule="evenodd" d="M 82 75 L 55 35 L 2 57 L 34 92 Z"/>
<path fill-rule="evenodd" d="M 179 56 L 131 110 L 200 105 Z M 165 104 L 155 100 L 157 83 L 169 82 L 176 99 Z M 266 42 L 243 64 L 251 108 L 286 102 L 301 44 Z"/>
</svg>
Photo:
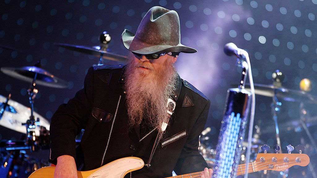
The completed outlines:
<svg viewBox="0 0 317 178">
<path fill-rule="evenodd" d="M 152 54 L 152 53 L 159 53 L 159 52 L 181 52 L 181 53 L 196 53 L 197 50 L 194 48 L 190 48 L 188 46 L 184 46 L 182 44 L 178 44 L 177 46 L 171 45 L 144 45 L 143 47 L 139 47 L 137 49 L 131 48 L 132 42 L 140 43 L 137 39 L 134 39 L 135 34 L 131 31 L 125 29 L 121 35 L 121 40 L 123 45 L 129 50 L 134 53 L 139 54 Z M 144 43 L 144 42 L 143 42 Z"/>
</svg>

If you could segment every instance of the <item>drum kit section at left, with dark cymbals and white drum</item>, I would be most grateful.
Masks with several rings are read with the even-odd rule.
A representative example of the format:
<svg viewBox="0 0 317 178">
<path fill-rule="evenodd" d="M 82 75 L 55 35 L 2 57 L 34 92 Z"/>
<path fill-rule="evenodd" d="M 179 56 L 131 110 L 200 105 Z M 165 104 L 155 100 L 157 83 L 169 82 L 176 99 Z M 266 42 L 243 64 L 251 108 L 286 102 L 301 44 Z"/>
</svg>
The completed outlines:
<svg viewBox="0 0 317 178">
<path fill-rule="evenodd" d="M 100 34 L 100 46 L 78 46 L 55 44 L 72 51 L 90 54 L 99 58 L 97 65 L 104 65 L 104 59 L 125 62 L 126 56 L 109 52 L 111 36 Z M 13 48 L 1 46 L 2 49 Z M 1 67 L 1 72 L 15 79 L 30 83 L 28 89 L 29 107 L 0 95 L 0 125 L 25 134 L 22 140 L 0 141 L 0 178 L 28 177 L 36 169 L 48 166 L 48 158 L 39 159 L 43 150 L 49 149 L 49 121 L 34 111 L 37 86 L 67 88 L 68 83 L 43 69 L 40 60 L 34 66 Z M 76 142 L 80 142 L 80 138 Z M 28 153 L 28 154 L 27 154 Z M 36 156 L 37 154 L 37 156 Z M 41 156 L 40 156 L 41 157 Z"/>
</svg>

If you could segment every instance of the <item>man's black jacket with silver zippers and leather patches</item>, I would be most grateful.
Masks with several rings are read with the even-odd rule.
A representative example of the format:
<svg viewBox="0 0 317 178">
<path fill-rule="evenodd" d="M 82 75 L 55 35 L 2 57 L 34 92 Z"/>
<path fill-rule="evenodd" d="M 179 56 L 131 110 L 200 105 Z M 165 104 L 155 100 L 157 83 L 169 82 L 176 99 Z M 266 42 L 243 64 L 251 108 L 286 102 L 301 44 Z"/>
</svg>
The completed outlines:
<svg viewBox="0 0 317 178">
<path fill-rule="evenodd" d="M 140 141 L 151 129 L 141 133 L 137 126 L 128 129 L 123 73 L 123 65 L 89 68 L 84 88 L 67 104 L 60 105 L 52 117 L 51 163 L 56 164 L 58 156 L 70 155 L 78 169 L 91 170 L 127 156 L 148 161 L 158 132 L 155 130 Z M 181 175 L 207 167 L 198 152 L 198 139 L 208 117 L 210 101 L 181 78 L 172 98 L 176 109 L 151 166 L 134 171 L 132 177 L 162 178 L 171 176 L 173 170 Z M 85 132 L 75 149 L 74 138 L 81 129 Z"/>
</svg>

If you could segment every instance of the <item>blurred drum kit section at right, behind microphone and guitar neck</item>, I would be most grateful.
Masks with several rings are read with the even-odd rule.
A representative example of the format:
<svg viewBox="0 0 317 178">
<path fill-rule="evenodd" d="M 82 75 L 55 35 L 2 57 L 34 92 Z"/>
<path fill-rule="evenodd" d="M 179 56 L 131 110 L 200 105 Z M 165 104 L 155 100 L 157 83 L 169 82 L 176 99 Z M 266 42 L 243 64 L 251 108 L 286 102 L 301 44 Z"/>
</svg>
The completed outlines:
<svg viewBox="0 0 317 178">
<path fill-rule="evenodd" d="M 262 138 L 261 135 L 265 134 L 272 134 L 275 133 L 275 144 L 282 145 L 281 144 L 281 138 L 280 138 L 280 132 L 290 131 L 293 129 L 293 132 L 296 132 L 296 129 L 300 127 L 300 130 L 303 130 L 303 134 L 301 134 L 300 138 L 300 144 L 303 144 L 306 146 L 306 148 L 309 148 L 311 153 L 314 153 L 317 151 L 317 144 L 315 141 L 315 138 L 313 137 L 313 134 L 310 132 L 312 129 L 310 127 L 313 127 L 317 125 L 317 116 L 312 117 L 309 115 L 307 106 L 317 106 L 317 97 L 313 96 L 309 93 L 311 90 L 311 82 L 309 79 L 302 79 L 300 82 L 300 88 L 301 90 L 292 90 L 288 88 L 284 88 L 282 86 L 282 82 L 284 80 L 284 75 L 281 71 L 276 70 L 272 74 L 272 85 L 262 85 L 262 84 L 254 84 L 255 87 L 255 93 L 256 96 L 264 96 L 267 98 L 272 99 L 272 103 L 270 104 L 271 107 L 271 114 L 272 114 L 272 120 L 274 122 L 274 126 L 268 126 L 267 124 L 256 124 L 255 125 L 255 132 L 253 134 L 252 139 L 252 148 L 251 148 L 251 156 L 250 156 L 250 162 L 255 161 L 256 156 L 258 153 L 261 153 L 261 146 L 263 144 L 266 144 Z M 246 85 L 245 89 L 250 91 L 250 86 Z M 293 105 L 296 105 L 296 108 L 298 109 L 298 113 L 300 117 L 296 120 L 281 120 L 282 118 L 279 113 L 282 107 L 282 102 L 290 102 Z M 283 104 L 284 105 L 284 104 Z M 264 121 L 264 118 L 258 118 L 258 120 L 261 122 L 268 122 L 267 120 Z M 200 153 L 204 156 L 207 164 L 210 167 L 213 167 L 215 164 L 215 158 L 216 158 L 216 150 L 213 145 L 210 145 L 210 138 L 212 136 L 209 134 L 211 129 L 208 127 L 206 128 L 202 134 L 200 135 L 200 146 L 198 150 Z M 303 138 L 305 137 L 305 139 Z M 308 139 L 306 139 L 308 138 Z M 286 140 L 288 138 L 284 138 Z M 244 163 L 246 161 L 246 148 L 247 143 L 243 143 L 242 148 L 242 154 L 241 154 L 241 160 L 240 163 Z M 282 153 L 282 150 L 280 150 L 280 153 Z M 301 175 L 306 175 L 306 177 L 313 177 L 317 178 L 316 170 L 314 170 L 314 166 L 309 163 L 308 170 L 311 172 L 311 176 L 307 175 L 305 170 L 301 171 Z M 261 171 L 258 173 L 255 177 L 297 177 L 298 173 L 294 173 L 292 175 L 291 172 L 284 171 L 284 172 L 268 172 L 268 171 Z M 253 175 L 250 175 L 253 177 Z M 304 176 L 305 177 L 305 176 Z"/>
</svg>

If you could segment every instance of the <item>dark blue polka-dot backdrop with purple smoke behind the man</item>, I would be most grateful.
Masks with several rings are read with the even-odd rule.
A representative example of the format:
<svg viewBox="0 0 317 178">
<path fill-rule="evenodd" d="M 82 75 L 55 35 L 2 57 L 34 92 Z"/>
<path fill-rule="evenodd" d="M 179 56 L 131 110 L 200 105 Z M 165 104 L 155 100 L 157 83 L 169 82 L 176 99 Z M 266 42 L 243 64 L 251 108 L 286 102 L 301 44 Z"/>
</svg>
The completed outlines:
<svg viewBox="0 0 317 178">
<path fill-rule="evenodd" d="M 280 69 L 285 75 L 283 86 L 299 89 L 302 78 L 313 82 L 311 94 L 317 95 L 317 1 L 275 0 L 219 1 L 91 1 L 63 2 L 1 1 L 0 48 L 1 66 L 31 66 L 41 59 L 43 68 L 69 83 L 66 89 L 39 86 L 36 99 L 38 112 L 50 120 L 58 105 L 66 103 L 82 88 L 87 68 L 97 58 L 58 48 L 54 43 L 98 45 L 98 35 L 107 31 L 112 36 L 111 52 L 127 54 L 120 42 L 124 29 L 136 32 L 148 9 L 159 5 L 176 10 L 180 17 L 181 42 L 198 53 L 180 54 L 176 67 L 211 100 L 208 125 L 219 127 L 226 91 L 237 84 L 241 70 L 235 59 L 223 53 L 227 42 L 249 52 L 254 82 L 271 84 L 271 74 Z M 108 61 L 106 64 L 118 64 Z M 29 83 L 1 73 L 1 95 L 12 93 L 12 99 L 27 105 Z M 257 96 L 258 97 L 258 96 Z M 270 120 L 270 99 L 258 97 L 256 119 Z M 266 102 L 264 102 L 266 101 Z M 281 120 L 296 119 L 282 108 Z M 216 133 L 216 132 L 215 132 Z M 3 138 L 5 134 L 2 134 Z"/>
</svg>

